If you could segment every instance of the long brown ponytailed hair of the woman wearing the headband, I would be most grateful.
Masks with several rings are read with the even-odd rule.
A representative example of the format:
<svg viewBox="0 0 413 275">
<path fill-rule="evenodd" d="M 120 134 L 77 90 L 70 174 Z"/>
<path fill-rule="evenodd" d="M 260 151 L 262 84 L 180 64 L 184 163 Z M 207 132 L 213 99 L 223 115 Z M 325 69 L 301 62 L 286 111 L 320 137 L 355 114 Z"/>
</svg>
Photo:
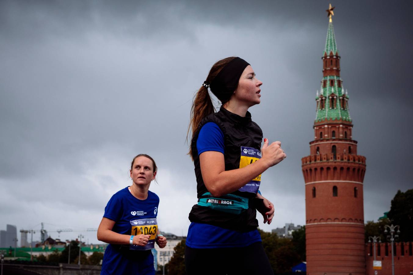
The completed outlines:
<svg viewBox="0 0 413 275">
<path fill-rule="evenodd" d="M 235 58 L 236 58 L 235 56 L 232 56 L 232 57 L 227 57 L 227 58 L 224 58 L 224 59 L 221 59 L 215 62 L 215 64 L 212 65 L 211 69 L 209 70 L 209 74 L 207 76 L 206 81 L 208 83 L 211 83 L 214 80 L 214 78 L 217 76 L 217 74 L 221 72 L 221 70 Z M 221 103 L 224 104 L 225 102 L 221 102 Z M 192 140 L 192 137 L 195 131 L 198 129 L 198 126 L 201 120 L 207 115 L 212 114 L 213 112 L 215 112 L 215 108 L 214 108 L 214 105 L 212 104 L 211 97 L 209 96 L 208 88 L 201 86 L 197 94 L 194 96 L 194 100 L 192 102 L 190 122 L 188 126 L 188 132 L 186 134 L 187 140 L 188 140 L 188 136 L 190 132 L 191 132 L 191 140 Z M 188 155 L 190 155 L 192 160 L 194 160 L 194 156 L 192 155 L 191 146 L 189 148 Z"/>
</svg>

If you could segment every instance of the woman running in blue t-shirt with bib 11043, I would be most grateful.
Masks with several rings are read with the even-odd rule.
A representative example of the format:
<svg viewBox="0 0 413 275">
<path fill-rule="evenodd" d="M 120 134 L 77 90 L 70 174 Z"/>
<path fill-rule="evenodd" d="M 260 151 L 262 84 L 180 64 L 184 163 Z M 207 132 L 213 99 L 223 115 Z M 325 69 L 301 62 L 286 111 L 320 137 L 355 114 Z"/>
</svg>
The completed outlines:
<svg viewBox="0 0 413 275">
<path fill-rule="evenodd" d="M 131 163 L 132 185 L 112 196 L 97 229 L 97 239 L 106 242 L 100 274 L 155 274 L 151 249 L 156 242 L 166 246 L 159 234 L 157 214 L 159 197 L 149 191 L 157 166 L 146 154 Z"/>
</svg>

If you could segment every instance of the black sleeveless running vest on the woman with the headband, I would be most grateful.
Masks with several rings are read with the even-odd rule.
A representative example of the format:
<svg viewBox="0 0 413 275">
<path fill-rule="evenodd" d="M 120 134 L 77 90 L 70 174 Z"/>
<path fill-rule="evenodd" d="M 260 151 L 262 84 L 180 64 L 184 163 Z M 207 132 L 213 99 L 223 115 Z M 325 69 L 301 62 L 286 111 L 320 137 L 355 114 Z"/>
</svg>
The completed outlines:
<svg viewBox="0 0 413 275">
<path fill-rule="evenodd" d="M 195 176 L 197 178 L 197 197 L 208 192 L 202 179 L 201 167 L 199 165 L 199 156 L 197 151 L 197 139 L 202 126 L 208 122 L 214 122 L 218 125 L 224 135 L 224 160 L 225 171 L 238 169 L 240 167 L 241 146 L 252 147 L 260 150 L 263 134 L 261 128 L 251 120 L 251 114 L 247 112 L 245 117 L 229 112 L 221 106 L 219 112 L 205 117 L 195 131 L 191 149 L 194 158 Z M 231 194 L 246 198 L 253 198 L 254 193 L 235 191 Z M 251 201 L 251 200 L 249 200 Z M 256 220 L 256 209 L 249 204 L 249 208 L 239 215 L 224 213 L 212 210 L 208 207 L 194 205 L 189 214 L 191 222 L 201 222 L 210 225 L 216 225 L 226 229 L 240 232 L 249 232 L 258 227 Z"/>
</svg>

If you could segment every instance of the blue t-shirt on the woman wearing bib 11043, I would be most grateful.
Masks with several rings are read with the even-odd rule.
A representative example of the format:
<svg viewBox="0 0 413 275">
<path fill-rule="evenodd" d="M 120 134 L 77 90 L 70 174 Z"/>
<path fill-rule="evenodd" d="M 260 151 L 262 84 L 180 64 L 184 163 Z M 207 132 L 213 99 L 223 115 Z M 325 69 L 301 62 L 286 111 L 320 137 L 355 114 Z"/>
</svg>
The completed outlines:
<svg viewBox="0 0 413 275">
<path fill-rule="evenodd" d="M 156 218 L 159 197 L 148 191 L 145 200 L 135 198 L 128 187 L 116 192 L 104 208 L 104 218 L 115 221 L 112 231 L 119 234 L 135 235 L 132 232 L 132 220 Z M 146 255 L 146 254 L 145 254 Z M 151 252 L 142 259 L 131 259 L 119 248 L 109 244 L 103 255 L 101 274 L 155 274 L 154 258 Z"/>
</svg>

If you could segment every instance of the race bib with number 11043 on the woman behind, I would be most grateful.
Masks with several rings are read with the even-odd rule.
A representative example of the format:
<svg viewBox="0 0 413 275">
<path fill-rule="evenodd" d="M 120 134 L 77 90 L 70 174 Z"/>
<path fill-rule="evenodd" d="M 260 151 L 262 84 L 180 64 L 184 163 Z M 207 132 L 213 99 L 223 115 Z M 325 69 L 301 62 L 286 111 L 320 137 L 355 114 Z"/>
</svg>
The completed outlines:
<svg viewBox="0 0 413 275">
<path fill-rule="evenodd" d="M 155 245 L 156 233 L 158 231 L 158 223 L 155 218 L 131 220 L 132 231 L 131 235 L 137 236 L 139 234 L 151 235 L 148 243 L 145 246 L 135 244 L 129 245 L 129 249 L 133 250 L 148 250 L 153 249 Z"/>
</svg>

